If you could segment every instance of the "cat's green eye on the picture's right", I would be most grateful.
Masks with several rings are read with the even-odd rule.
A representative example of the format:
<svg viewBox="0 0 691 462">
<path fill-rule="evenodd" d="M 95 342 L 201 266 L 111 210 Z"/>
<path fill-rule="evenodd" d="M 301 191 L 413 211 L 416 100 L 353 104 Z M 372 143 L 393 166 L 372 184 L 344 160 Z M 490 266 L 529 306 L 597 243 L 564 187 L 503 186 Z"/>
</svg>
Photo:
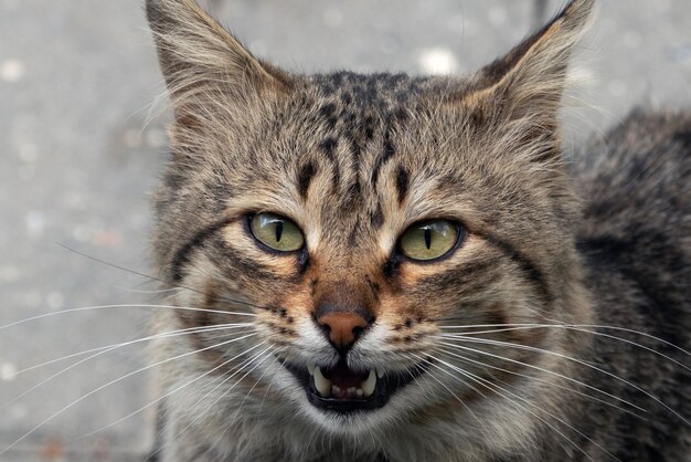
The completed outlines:
<svg viewBox="0 0 691 462">
<path fill-rule="evenodd" d="M 458 232 L 458 227 L 450 221 L 425 221 L 405 230 L 398 246 L 408 259 L 434 260 L 447 254 L 456 245 Z"/>
</svg>

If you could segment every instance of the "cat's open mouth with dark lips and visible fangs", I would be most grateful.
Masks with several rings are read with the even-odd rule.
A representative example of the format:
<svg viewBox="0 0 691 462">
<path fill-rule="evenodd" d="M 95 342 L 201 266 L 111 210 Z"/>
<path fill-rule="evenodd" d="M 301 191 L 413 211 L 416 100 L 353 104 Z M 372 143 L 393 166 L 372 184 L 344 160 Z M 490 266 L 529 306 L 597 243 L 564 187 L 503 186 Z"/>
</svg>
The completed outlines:
<svg viewBox="0 0 691 462">
<path fill-rule="evenodd" d="M 425 371 L 425 364 L 402 372 L 353 370 L 341 360 L 330 368 L 286 364 L 316 408 L 348 413 L 382 408 L 400 389 Z"/>
</svg>

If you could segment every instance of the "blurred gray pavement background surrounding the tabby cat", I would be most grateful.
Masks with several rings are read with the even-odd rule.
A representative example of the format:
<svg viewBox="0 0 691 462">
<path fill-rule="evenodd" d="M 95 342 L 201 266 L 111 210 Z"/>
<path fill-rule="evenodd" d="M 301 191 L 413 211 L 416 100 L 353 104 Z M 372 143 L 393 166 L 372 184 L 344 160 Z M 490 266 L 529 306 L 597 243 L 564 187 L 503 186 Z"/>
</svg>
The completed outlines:
<svg viewBox="0 0 691 462">
<path fill-rule="evenodd" d="M 573 67 L 571 145 L 634 105 L 691 104 L 691 2 L 600 3 Z M 562 1 L 204 4 L 291 71 L 460 73 L 507 51 Z M 151 273 L 163 90 L 141 0 L 0 0 L 0 461 L 134 461 L 152 438 L 152 408 L 120 421 L 155 395 L 149 371 L 132 374 L 145 367 L 143 343 L 25 369 L 147 333 L 151 308 L 98 306 L 156 303 L 157 285 L 57 243 Z"/>
</svg>

